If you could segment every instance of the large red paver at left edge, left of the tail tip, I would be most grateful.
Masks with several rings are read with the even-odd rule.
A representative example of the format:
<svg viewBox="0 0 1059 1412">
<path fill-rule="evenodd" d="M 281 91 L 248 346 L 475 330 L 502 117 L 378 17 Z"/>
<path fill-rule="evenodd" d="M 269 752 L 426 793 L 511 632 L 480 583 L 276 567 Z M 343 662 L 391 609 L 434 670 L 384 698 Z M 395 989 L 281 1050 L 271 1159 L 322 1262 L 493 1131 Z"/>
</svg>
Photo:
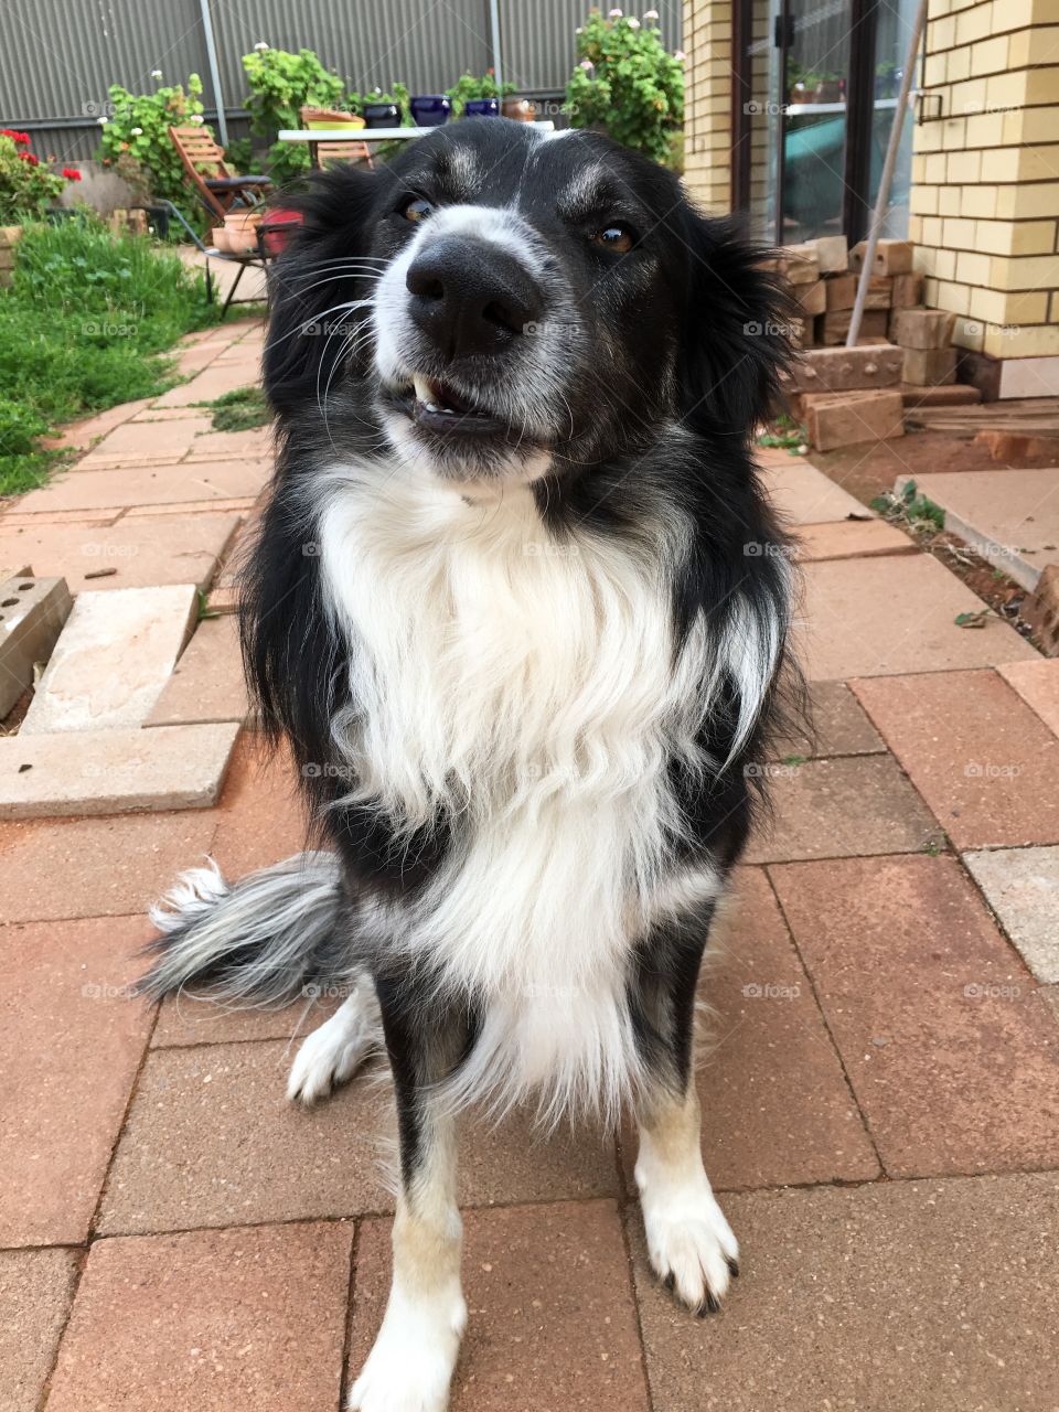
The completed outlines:
<svg viewBox="0 0 1059 1412">
<path fill-rule="evenodd" d="M 88 1236 L 152 1017 L 140 918 L 0 931 L 0 1245 Z"/>
</svg>

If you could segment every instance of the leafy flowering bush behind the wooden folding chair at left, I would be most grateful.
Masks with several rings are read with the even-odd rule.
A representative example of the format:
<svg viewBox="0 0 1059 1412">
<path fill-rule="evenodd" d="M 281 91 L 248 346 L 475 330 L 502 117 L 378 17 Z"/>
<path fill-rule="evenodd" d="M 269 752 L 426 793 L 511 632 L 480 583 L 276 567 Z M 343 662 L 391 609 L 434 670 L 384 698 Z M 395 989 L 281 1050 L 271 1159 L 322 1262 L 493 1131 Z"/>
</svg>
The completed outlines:
<svg viewBox="0 0 1059 1412">
<path fill-rule="evenodd" d="M 100 138 L 104 164 L 128 179 L 131 168 L 127 160 L 131 158 L 152 196 L 185 206 L 188 188 L 169 128 L 205 127 L 202 79 L 198 73 L 188 75 L 186 92 L 182 83 L 158 88 L 154 93 L 130 93 L 120 83 L 112 83 L 107 96 L 110 117 L 103 121 Z"/>
</svg>

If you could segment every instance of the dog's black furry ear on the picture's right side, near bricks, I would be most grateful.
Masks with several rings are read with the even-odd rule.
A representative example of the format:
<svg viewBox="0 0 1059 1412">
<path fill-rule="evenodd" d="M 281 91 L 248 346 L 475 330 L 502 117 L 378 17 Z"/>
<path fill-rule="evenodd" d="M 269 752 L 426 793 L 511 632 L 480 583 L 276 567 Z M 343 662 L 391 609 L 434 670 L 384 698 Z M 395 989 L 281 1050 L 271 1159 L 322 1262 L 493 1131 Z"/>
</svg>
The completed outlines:
<svg viewBox="0 0 1059 1412">
<path fill-rule="evenodd" d="M 779 401 L 792 356 L 794 301 L 730 217 L 685 210 L 690 271 L 678 363 L 681 412 L 690 425 L 748 438 Z"/>
</svg>

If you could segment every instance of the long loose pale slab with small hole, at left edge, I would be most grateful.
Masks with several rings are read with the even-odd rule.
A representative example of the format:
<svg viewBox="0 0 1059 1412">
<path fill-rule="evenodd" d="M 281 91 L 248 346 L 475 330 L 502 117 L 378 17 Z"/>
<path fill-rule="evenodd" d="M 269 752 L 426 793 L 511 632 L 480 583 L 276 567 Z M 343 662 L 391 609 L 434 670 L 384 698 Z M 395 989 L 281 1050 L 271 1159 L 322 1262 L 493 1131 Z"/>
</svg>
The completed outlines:
<svg viewBox="0 0 1059 1412">
<path fill-rule="evenodd" d="M 239 726 L 83 730 L 0 740 L 0 819 L 208 809 Z"/>
</svg>

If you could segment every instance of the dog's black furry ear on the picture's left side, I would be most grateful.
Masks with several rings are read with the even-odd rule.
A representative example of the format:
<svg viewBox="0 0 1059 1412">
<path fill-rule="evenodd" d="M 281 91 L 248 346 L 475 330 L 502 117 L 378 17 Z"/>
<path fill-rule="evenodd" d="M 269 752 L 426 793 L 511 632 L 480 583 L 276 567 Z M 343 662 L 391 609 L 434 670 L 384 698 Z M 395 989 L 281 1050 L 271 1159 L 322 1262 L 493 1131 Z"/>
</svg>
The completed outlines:
<svg viewBox="0 0 1059 1412">
<path fill-rule="evenodd" d="M 315 401 L 346 349 L 346 329 L 360 313 L 352 305 L 367 285 L 370 216 L 385 179 L 360 167 L 333 167 L 273 202 L 277 219 L 299 217 L 281 227 L 284 249 L 268 277 L 264 390 L 281 418 Z"/>
</svg>

